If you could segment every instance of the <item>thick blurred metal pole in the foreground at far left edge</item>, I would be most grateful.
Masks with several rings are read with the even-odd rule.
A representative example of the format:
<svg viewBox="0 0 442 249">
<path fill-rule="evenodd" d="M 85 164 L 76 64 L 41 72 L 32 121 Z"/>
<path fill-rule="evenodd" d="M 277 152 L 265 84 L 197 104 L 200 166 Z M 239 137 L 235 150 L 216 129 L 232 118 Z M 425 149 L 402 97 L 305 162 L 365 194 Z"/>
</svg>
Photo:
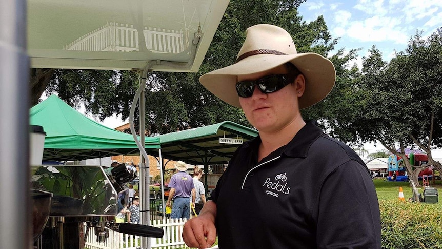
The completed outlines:
<svg viewBox="0 0 442 249">
<path fill-rule="evenodd" d="M 32 248 L 29 184 L 29 58 L 26 1 L 0 1 L 0 196 L 9 197 L 0 219 L 2 248 Z"/>
</svg>

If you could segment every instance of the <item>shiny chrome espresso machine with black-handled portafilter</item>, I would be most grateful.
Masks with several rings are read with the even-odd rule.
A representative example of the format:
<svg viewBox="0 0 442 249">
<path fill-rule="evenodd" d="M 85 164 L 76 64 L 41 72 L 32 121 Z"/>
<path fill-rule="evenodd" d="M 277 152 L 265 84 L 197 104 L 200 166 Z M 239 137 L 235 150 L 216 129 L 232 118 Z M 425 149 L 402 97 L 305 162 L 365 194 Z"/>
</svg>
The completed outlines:
<svg viewBox="0 0 442 249">
<path fill-rule="evenodd" d="M 89 233 L 95 234 L 97 242 L 104 242 L 109 229 L 142 237 L 163 237 L 161 228 L 115 223 L 119 212 L 117 195 L 124 190 L 124 183 L 135 177 L 136 169 L 125 163 L 113 168 L 31 166 L 34 248 L 84 248 Z"/>
</svg>

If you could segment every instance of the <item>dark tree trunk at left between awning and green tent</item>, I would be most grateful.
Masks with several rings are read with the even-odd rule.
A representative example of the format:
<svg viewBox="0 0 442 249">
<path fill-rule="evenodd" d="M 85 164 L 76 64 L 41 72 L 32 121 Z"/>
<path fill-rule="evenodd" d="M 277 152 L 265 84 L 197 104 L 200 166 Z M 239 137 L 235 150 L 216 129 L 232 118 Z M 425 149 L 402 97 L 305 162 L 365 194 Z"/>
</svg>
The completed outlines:
<svg viewBox="0 0 442 249">
<path fill-rule="evenodd" d="M 29 85 L 31 87 L 31 107 L 38 104 L 43 92 L 51 80 L 55 69 L 52 68 L 31 68 Z"/>
</svg>

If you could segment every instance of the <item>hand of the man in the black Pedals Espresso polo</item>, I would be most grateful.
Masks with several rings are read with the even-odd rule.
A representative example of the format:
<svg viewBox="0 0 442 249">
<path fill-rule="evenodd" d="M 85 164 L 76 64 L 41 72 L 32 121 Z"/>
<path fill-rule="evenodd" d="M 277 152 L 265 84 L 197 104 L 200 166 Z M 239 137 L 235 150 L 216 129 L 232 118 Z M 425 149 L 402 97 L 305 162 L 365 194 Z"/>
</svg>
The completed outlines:
<svg viewBox="0 0 442 249">
<path fill-rule="evenodd" d="M 207 202 L 198 217 L 188 220 L 184 224 L 183 239 L 187 246 L 200 249 L 209 248 L 215 243 L 216 204 Z"/>
</svg>

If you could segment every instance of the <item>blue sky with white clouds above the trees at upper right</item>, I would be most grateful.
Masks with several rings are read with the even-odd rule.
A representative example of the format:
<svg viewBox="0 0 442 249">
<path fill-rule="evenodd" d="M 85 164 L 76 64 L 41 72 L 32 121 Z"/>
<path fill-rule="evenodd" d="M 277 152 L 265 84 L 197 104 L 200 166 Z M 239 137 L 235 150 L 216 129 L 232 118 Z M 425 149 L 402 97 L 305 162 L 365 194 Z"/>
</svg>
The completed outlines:
<svg viewBox="0 0 442 249">
<path fill-rule="evenodd" d="M 442 27 L 441 0 L 307 0 L 298 11 L 306 22 L 323 15 L 332 37 L 340 37 L 337 49 L 362 48 L 358 65 L 373 45 L 390 61 L 416 31 L 427 37 Z"/>
</svg>

